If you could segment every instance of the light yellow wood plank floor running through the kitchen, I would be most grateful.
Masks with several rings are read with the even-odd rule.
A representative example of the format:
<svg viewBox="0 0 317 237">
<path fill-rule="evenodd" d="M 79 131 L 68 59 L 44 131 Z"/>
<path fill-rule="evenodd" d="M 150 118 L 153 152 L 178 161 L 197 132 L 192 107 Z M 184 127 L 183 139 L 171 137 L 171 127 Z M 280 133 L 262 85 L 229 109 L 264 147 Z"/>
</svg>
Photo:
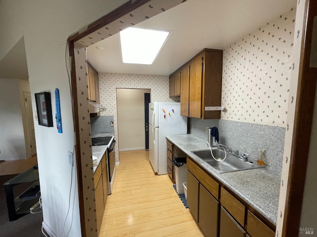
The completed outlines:
<svg viewBox="0 0 317 237">
<path fill-rule="evenodd" d="M 145 150 L 120 152 L 100 237 L 203 237 L 168 175 L 155 175 Z"/>
</svg>

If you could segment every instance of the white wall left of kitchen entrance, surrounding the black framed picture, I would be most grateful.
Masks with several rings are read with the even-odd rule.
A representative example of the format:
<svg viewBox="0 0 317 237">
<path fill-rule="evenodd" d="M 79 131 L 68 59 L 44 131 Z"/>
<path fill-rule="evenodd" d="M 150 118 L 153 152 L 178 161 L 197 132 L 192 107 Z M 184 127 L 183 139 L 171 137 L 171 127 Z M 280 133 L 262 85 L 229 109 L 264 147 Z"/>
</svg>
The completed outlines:
<svg viewBox="0 0 317 237">
<path fill-rule="evenodd" d="M 54 89 L 59 88 L 63 133 L 56 125 L 48 128 L 35 122 L 37 157 L 43 219 L 51 235 L 81 236 L 77 180 L 70 183 L 68 151 L 73 151 L 74 129 L 65 66 L 65 45 L 69 35 L 127 0 L 2 0 L 0 2 L 0 59 L 24 36 L 31 93 L 50 91 L 55 114 Z M 2 100 L 1 100 L 2 101 Z M 33 108 L 35 99 L 32 97 Z M 23 129 L 23 128 L 21 128 Z M 24 135 L 22 134 L 22 137 Z M 76 167 L 76 166 L 75 166 Z M 70 192 L 70 188 L 72 191 Z M 72 201 L 74 200 L 74 201 Z"/>
</svg>

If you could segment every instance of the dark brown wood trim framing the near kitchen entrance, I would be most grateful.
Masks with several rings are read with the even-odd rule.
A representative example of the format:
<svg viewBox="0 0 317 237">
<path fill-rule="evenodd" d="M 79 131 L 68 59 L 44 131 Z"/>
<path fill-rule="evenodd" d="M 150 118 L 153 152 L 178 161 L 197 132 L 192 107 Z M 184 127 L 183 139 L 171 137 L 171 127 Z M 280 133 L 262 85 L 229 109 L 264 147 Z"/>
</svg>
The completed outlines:
<svg viewBox="0 0 317 237">
<path fill-rule="evenodd" d="M 72 103 L 73 103 L 73 118 L 74 118 L 74 130 L 76 135 L 76 144 L 80 144 L 80 127 L 79 127 L 79 113 L 78 113 L 78 94 L 76 83 L 76 67 L 74 60 L 74 43 L 89 34 L 97 31 L 98 29 L 105 27 L 107 24 L 119 19 L 125 14 L 139 8 L 143 4 L 150 0 L 137 0 L 133 3 L 131 1 L 126 2 L 122 6 L 108 13 L 104 17 L 98 19 L 88 26 L 88 29 L 83 33 L 76 33 L 68 38 L 69 55 L 71 56 L 71 86 L 72 86 Z M 315 7 L 315 10 L 313 9 Z M 303 191 L 305 185 L 305 174 L 308 160 L 308 150 L 310 144 L 310 134 L 313 118 L 313 106 L 315 102 L 316 93 L 316 70 L 309 68 L 309 55 L 312 38 L 312 17 L 316 14 L 316 0 L 306 0 L 307 14 L 306 22 L 304 22 L 305 36 L 302 43 L 302 55 L 300 65 L 300 75 L 297 88 L 297 100 L 294 120 L 294 132 L 292 140 L 292 153 L 290 157 L 290 173 L 289 182 L 287 187 L 287 197 L 285 206 L 285 215 L 283 222 L 283 234 L 282 236 L 292 236 L 294 233 L 298 233 L 301 207 L 303 201 Z M 315 85 L 315 86 L 314 86 Z M 87 104 L 88 109 L 88 104 Z M 305 121 L 305 122 L 303 122 Z M 300 155 L 299 155 L 300 154 Z M 82 187 L 82 170 L 81 170 L 81 149 L 80 146 L 76 146 L 76 168 L 77 168 L 77 182 L 78 182 L 78 195 L 79 195 L 79 209 L 80 209 L 80 221 L 82 236 L 86 237 L 85 226 L 85 213 L 84 213 L 84 196 Z"/>
</svg>

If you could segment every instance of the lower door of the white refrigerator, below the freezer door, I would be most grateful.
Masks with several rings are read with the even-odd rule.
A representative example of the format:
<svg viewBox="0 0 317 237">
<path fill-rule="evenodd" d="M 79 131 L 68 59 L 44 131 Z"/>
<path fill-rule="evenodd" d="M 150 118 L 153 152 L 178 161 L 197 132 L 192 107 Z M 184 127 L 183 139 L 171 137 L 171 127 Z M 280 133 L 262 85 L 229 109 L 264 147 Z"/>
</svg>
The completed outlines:
<svg viewBox="0 0 317 237">
<path fill-rule="evenodd" d="M 149 126 L 149 159 L 154 172 L 159 171 L 159 128 Z"/>
</svg>

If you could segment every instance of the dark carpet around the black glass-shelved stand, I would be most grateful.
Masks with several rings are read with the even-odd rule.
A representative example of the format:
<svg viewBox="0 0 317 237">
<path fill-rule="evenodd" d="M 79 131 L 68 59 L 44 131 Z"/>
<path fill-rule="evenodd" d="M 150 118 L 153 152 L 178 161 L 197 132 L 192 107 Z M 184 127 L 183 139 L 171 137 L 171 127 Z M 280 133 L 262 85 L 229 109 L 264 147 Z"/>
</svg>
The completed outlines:
<svg viewBox="0 0 317 237">
<path fill-rule="evenodd" d="M 43 214 L 23 214 L 15 221 L 9 221 L 3 183 L 15 177 L 13 175 L 0 176 L 0 236 L 1 237 L 43 237 L 41 227 Z M 30 184 L 26 183 L 28 186 Z M 19 187 L 25 189 L 26 187 Z"/>
</svg>

